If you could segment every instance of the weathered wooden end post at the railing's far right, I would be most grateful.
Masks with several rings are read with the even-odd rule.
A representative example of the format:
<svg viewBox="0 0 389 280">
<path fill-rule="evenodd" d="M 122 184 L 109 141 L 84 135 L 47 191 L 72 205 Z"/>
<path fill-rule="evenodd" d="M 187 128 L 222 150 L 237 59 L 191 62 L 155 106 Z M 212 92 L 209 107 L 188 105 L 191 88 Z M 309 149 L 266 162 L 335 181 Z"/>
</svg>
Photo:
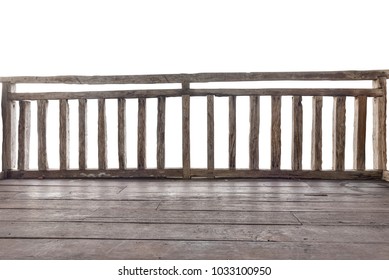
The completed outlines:
<svg viewBox="0 0 389 280">
<path fill-rule="evenodd" d="M 386 77 L 373 81 L 384 96 L 373 99 L 373 163 L 374 169 L 386 170 Z"/>
</svg>

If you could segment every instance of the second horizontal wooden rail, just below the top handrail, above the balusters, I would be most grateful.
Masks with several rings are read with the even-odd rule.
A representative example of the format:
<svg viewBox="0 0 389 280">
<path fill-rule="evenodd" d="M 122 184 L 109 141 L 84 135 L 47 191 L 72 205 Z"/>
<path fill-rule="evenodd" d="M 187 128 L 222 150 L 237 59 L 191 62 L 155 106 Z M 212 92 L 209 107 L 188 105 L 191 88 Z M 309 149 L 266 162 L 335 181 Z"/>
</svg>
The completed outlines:
<svg viewBox="0 0 389 280">
<path fill-rule="evenodd" d="M 190 96 L 383 96 L 382 89 L 352 89 L 352 88 L 257 88 L 257 89 L 189 89 Z M 11 100 L 41 100 L 41 99 L 117 99 L 117 98 L 157 98 L 160 96 L 182 96 L 180 89 L 160 90 L 115 90 L 115 91 L 78 91 L 78 92 L 21 92 L 11 97 Z"/>
</svg>

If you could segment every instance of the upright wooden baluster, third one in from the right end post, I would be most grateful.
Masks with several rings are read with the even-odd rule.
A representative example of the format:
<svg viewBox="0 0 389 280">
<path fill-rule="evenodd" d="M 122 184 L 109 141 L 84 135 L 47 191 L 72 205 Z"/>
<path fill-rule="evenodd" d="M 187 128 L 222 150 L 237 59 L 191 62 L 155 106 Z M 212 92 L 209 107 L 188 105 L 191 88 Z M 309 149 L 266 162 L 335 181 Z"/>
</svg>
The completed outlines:
<svg viewBox="0 0 389 280">
<path fill-rule="evenodd" d="M 322 108 L 323 97 L 312 97 L 311 169 L 321 170 L 322 164 Z"/>
</svg>

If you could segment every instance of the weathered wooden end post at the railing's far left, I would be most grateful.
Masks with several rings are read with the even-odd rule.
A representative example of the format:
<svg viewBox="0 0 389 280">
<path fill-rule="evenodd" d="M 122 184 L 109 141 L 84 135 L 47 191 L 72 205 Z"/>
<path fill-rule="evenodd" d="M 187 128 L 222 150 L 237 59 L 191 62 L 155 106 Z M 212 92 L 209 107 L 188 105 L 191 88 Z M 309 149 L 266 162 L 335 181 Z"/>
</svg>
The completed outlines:
<svg viewBox="0 0 389 280">
<path fill-rule="evenodd" d="M 7 178 L 7 171 L 16 167 L 16 111 L 15 102 L 10 100 L 10 94 L 15 92 L 15 85 L 3 83 L 2 89 L 2 117 L 3 117 L 3 172 Z"/>
</svg>

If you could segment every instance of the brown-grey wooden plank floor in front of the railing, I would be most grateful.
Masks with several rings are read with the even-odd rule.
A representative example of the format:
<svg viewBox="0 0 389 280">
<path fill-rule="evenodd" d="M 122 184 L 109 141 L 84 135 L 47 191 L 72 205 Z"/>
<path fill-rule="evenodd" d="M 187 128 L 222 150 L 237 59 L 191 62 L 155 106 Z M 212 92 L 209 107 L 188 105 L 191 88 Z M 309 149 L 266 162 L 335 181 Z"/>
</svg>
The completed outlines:
<svg viewBox="0 0 389 280">
<path fill-rule="evenodd" d="M 389 183 L 2 180 L 0 259 L 389 259 Z"/>
</svg>

